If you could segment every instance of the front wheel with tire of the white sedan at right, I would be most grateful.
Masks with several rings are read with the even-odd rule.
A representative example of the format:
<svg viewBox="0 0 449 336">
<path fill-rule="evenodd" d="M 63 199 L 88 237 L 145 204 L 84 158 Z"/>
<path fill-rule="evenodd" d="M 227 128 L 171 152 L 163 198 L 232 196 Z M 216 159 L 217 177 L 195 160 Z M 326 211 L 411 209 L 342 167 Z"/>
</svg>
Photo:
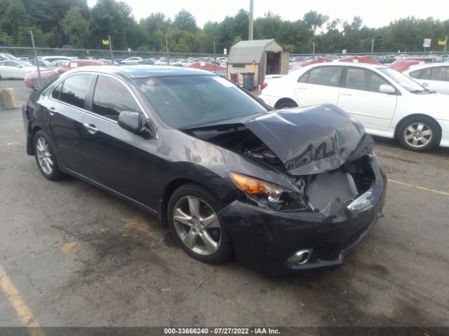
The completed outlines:
<svg viewBox="0 0 449 336">
<path fill-rule="evenodd" d="M 403 148 L 415 152 L 427 152 L 440 144 L 441 128 L 431 118 L 416 116 L 401 123 L 397 137 Z"/>
</svg>

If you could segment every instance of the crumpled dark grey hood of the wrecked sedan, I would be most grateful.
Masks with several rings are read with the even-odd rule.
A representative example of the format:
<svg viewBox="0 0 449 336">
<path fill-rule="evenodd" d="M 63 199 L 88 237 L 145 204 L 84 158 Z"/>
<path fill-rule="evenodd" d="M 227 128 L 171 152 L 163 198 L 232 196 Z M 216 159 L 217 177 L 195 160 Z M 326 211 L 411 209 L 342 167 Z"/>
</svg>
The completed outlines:
<svg viewBox="0 0 449 336">
<path fill-rule="evenodd" d="M 274 111 L 243 124 L 292 175 L 337 169 L 373 150 L 361 123 L 334 105 Z"/>
</svg>

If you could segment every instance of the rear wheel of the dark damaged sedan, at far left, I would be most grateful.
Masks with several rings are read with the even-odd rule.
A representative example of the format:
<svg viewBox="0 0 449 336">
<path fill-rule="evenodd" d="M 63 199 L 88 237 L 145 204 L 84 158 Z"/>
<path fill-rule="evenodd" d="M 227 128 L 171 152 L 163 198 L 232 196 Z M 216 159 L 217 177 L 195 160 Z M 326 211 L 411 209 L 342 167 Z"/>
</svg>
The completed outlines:
<svg viewBox="0 0 449 336">
<path fill-rule="evenodd" d="M 62 172 L 60 172 L 53 145 L 41 130 L 34 134 L 33 146 L 34 158 L 36 158 L 37 167 L 39 167 L 42 175 L 51 181 L 61 179 Z"/>
</svg>

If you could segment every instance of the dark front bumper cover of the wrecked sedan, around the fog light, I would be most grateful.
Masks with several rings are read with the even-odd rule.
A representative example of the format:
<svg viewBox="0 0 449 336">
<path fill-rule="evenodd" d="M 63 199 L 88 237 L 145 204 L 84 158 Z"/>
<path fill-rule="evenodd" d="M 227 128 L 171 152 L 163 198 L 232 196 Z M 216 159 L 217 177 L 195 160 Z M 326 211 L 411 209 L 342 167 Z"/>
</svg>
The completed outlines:
<svg viewBox="0 0 449 336">
<path fill-rule="evenodd" d="M 237 260 L 272 274 L 340 265 L 344 255 L 372 230 L 382 217 L 387 179 L 373 158 L 372 186 L 348 206 L 335 204 L 326 213 L 263 209 L 235 200 L 219 213 L 232 239 Z M 288 262 L 295 252 L 313 248 L 304 265 Z"/>
</svg>

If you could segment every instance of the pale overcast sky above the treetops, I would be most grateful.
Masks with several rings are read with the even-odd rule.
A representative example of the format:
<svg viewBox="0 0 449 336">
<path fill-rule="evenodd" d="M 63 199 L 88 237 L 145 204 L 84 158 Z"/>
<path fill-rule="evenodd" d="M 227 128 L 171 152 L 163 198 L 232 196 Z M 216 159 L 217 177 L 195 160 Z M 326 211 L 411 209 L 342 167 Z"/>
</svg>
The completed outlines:
<svg viewBox="0 0 449 336">
<path fill-rule="evenodd" d="M 235 15 L 240 8 L 249 10 L 249 0 L 121 0 L 133 8 L 137 20 L 147 18 L 150 13 L 161 12 L 168 18 L 174 18 L 182 8 L 188 10 L 196 18 L 199 27 L 208 21 L 220 22 L 227 15 Z M 89 6 L 94 6 L 96 0 L 88 0 Z M 363 25 L 382 27 L 399 18 L 413 16 L 439 19 L 449 19 L 448 0 L 403 1 L 344 1 L 344 0 L 254 0 L 254 17 L 258 18 L 269 10 L 281 15 L 283 20 L 298 20 L 309 10 L 328 15 L 330 19 L 340 18 L 342 21 L 352 21 L 354 16 L 361 16 Z"/>
</svg>

